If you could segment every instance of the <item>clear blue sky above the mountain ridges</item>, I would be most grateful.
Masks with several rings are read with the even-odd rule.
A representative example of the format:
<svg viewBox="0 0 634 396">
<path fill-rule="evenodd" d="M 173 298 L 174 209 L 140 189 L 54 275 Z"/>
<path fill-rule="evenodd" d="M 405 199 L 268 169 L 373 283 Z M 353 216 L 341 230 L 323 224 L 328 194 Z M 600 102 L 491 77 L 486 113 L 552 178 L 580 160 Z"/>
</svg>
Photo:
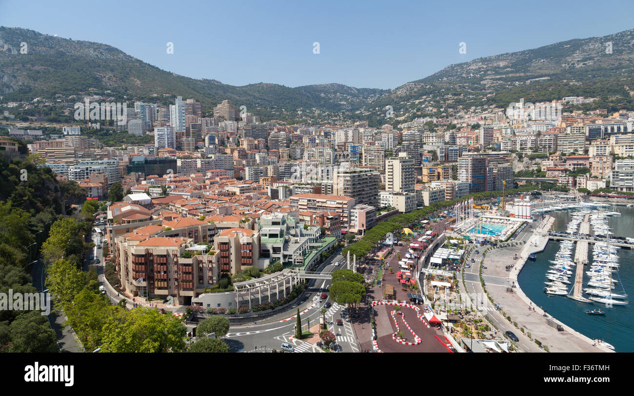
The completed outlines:
<svg viewBox="0 0 634 396">
<path fill-rule="evenodd" d="M 0 25 L 110 44 L 226 84 L 388 89 L 451 63 L 632 29 L 632 11 L 631 0 L 0 0 Z"/>
</svg>

